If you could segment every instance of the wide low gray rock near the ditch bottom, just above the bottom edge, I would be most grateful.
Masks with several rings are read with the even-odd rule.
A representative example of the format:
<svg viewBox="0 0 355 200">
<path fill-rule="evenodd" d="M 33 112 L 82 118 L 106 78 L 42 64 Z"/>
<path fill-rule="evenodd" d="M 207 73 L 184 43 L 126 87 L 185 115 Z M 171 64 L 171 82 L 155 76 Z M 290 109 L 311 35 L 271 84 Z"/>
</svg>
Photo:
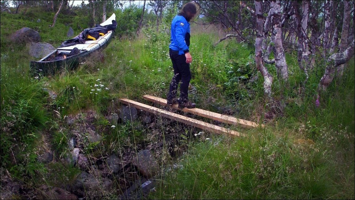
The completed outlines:
<svg viewBox="0 0 355 200">
<path fill-rule="evenodd" d="M 108 178 L 97 178 L 93 174 L 82 172 L 78 178 L 74 181 L 72 192 L 79 196 L 83 196 L 89 191 L 110 191 L 113 187 L 112 180 Z"/>
</svg>

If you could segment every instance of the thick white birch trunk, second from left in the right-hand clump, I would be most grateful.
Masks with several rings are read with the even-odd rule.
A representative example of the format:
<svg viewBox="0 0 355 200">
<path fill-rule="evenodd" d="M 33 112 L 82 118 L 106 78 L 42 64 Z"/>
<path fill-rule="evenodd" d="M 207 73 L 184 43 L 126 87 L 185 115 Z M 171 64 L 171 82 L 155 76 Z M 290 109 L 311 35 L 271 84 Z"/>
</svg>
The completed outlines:
<svg viewBox="0 0 355 200">
<path fill-rule="evenodd" d="M 275 47 L 275 66 L 277 69 L 278 76 L 281 76 L 284 81 L 288 80 L 287 64 L 285 59 L 285 52 L 282 46 L 282 29 L 281 29 L 281 6 L 280 1 L 271 1 L 271 24 L 272 24 L 272 34 L 271 40 Z"/>
</svg>

